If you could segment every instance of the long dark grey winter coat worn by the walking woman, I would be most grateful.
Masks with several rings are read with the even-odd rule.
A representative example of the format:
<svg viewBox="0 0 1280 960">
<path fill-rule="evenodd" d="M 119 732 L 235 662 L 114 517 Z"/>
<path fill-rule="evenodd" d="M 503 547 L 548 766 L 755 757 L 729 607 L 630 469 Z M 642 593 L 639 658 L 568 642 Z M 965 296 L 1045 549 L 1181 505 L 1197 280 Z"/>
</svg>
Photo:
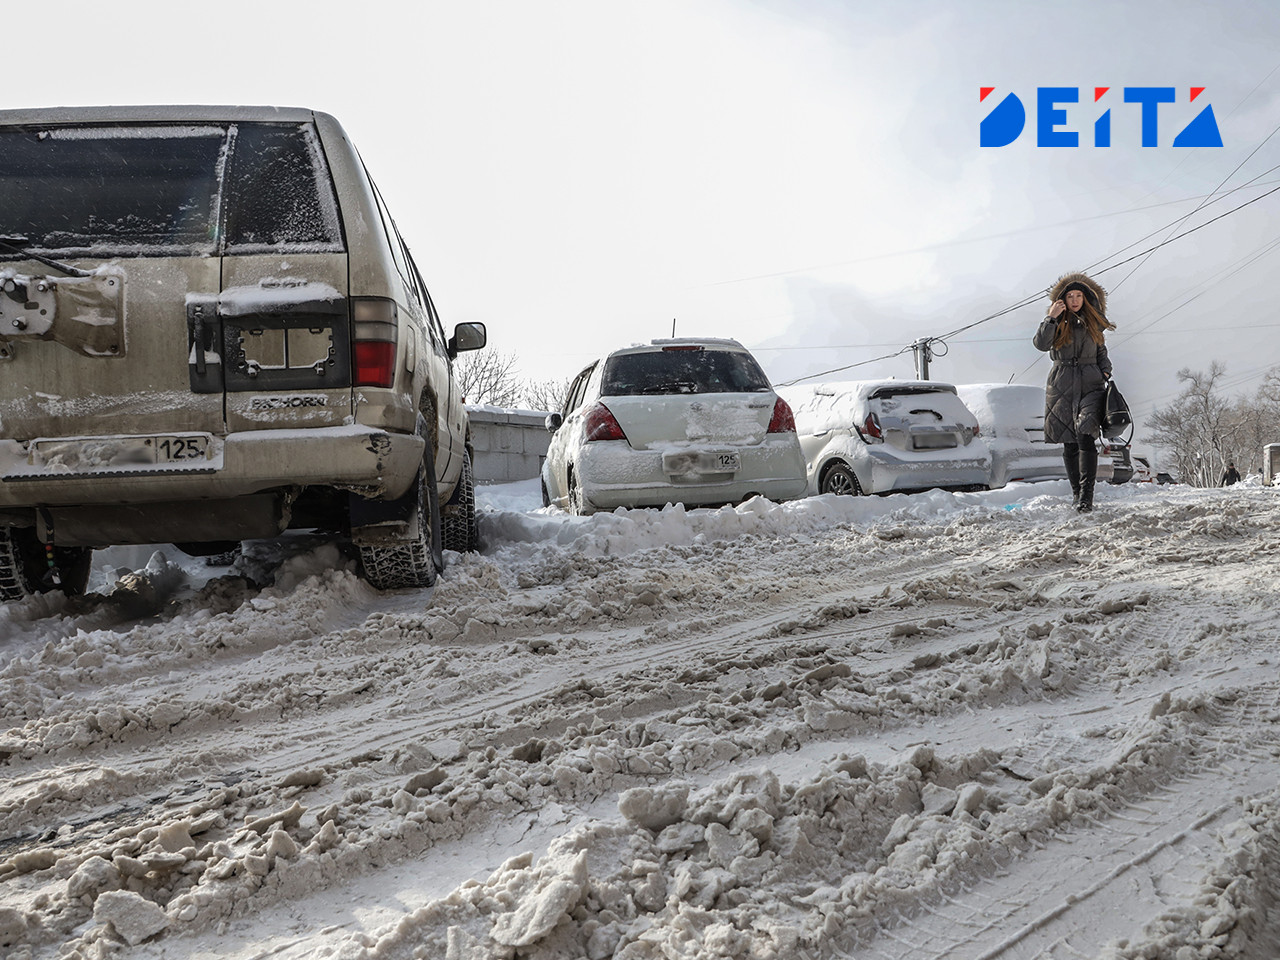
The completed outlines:
<svg viewBox="0 0 1280 960">
<path fill-rule="evenodd" d="M 1059 323 L 1071 324 L 1071 340 L 1055 349 Z M 1102 398 L 1106 378 L 1111 375 L 1106 344 L 1094 343 L 1084 323 L 1070 312 L 1057 320 L 1046 316 L 1033 342 L 1053 358 L 1044 387 L 1044 439 L 1078 443 L 1084 436 L 1100 436 Z"/>
</svg>

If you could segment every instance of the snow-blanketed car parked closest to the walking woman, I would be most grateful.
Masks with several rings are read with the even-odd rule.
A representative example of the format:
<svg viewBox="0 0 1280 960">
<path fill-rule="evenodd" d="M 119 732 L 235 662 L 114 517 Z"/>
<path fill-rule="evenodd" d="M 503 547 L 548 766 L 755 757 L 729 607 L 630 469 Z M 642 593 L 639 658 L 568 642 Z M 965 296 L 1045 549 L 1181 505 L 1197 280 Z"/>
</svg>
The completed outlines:
<svg viewBox="0 0 1280 960">
<path fill-rule="evenodd" d="M 1044 442 L 1044 388 L 1030 384 L 959 384 L 991 451 L 991 488 L 1065 480 L 1062 444 Z"/>
</svg>

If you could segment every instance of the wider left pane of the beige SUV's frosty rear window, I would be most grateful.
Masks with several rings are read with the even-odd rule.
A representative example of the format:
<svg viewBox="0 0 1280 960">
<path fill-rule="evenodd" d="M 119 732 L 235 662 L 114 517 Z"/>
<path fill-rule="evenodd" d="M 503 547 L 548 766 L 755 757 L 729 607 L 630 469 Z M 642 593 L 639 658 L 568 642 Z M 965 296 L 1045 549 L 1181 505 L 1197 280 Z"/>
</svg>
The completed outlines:
<svg viewBox="0 0 1280 960">
<path fill-rule="evenodd" d="M 212 252 L 216 127 L 0 131 L 0 236 L 37 251 Z"/>
</svg>

